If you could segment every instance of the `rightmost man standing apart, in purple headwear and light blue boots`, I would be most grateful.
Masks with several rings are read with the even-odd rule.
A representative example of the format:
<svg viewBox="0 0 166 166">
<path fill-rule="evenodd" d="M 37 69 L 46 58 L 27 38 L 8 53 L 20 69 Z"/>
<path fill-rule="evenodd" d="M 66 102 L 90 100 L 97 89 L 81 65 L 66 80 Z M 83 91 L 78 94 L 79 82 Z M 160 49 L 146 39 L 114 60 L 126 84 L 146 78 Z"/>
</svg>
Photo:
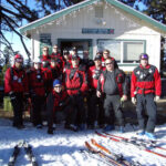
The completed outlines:
<svg viewBox="0 0 166 166">
<path fill-rule="evenodd" d="M 162 94 L 160 75 L 156 66 L 148 64 L 148 54 L 139 55 L 139 65 L 132 73 L 131 96 L 132 103 L 136 104 L 136 113 L 141 132 L 138 135 L 146 135 L 156 138 L 154 135 L 156 124 L 156 103 Z M 147 111 L 147 123 L 145 118 Z"/>
</svg>

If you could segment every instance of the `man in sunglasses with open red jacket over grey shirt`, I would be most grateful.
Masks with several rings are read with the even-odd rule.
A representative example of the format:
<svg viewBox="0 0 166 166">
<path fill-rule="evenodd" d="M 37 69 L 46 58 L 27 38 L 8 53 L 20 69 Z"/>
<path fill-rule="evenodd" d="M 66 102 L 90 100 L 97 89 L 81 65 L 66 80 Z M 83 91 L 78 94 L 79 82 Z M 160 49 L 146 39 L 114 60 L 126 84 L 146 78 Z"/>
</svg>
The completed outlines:
<svg viewBox="0 0 166 166">
<path fill-rule="evenodd" d="M 114 59 L 107 58 L 105 60 L 106 70 L 101 74 L 97 82 L 97 97 L 105 93 L 104 100 L 104 115 L 105 127 L 104 131 L 114 129 L 115 117 L 120 124 L 120 132 L 124 132 L 124 117 L 122 113 L 121 101 L 127 100 L 127 84 L 125 73 L 114 68 Z M 115 114 L 115 117 L 114 117 Z"/>
</svg>

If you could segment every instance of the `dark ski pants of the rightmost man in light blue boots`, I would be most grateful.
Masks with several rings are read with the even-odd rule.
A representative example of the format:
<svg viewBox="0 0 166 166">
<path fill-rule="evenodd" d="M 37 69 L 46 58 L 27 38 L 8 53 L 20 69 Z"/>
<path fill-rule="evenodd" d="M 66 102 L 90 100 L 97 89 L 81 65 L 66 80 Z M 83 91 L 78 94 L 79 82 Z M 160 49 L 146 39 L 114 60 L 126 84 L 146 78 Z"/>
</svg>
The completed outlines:
<svg viewBox="0 0 166 166">
<path fill-rule="evenodd" d="M 137 94 L 136 98 L 136 113 L 139 128 L 154 133 L 157 112 L 156 103 L 154 102 L 154 94 Z"/>
</svg>

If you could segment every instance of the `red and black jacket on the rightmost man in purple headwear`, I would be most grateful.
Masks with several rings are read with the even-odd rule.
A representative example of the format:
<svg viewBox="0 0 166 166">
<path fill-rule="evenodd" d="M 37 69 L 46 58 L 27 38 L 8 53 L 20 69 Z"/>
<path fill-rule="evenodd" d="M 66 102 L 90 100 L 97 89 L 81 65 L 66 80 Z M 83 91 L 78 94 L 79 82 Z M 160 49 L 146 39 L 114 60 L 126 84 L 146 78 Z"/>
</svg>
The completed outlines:
<svg viewBox="0 0 166 166">
<path fill-rule="evenodd" d="M 148 64 L 146 69 L 139 65 L 132 73 L 131 96 L 134 97 L 136 94 L 148 93 L 160 96 L 160 75 L 154 65 Z"/>
</svg>

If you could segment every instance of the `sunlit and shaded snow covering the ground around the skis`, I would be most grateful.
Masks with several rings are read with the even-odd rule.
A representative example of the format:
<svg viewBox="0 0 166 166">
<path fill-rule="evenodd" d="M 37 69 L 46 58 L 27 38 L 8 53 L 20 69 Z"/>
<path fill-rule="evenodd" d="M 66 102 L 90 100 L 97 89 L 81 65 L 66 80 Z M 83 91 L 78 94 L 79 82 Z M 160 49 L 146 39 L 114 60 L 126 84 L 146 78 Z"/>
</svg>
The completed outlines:
<svg viewBox="0 0 166 166">
<path fill-rule="evenodd" d="M 166 158 L 149 154 L 134 145 L 116 143 L 100 137 L 94 131 L 89 129 L 74 133 L 60 127 L 53 135 L 48 135 L 46 127 L 37 129 L 28 124 L 29 126 L 25 129 L 17 129 L 11 124 L 10 120 L 0 118 L 0 166 L 8 165 L 13 147 L 20 139 L 25 139 L 32 145 L 39 166 L 106 166 L 106 163 L 100 162 L 100 158 L 96 159 L 95 155 L 87 156 L 80 152 L 80 149 L 86 149 L 84 142 L 87 141 L 90 143 L 91 138 L 95 138 L 111 152 L 123 154 L 129 162 L 137 160 L 143 166 L 166 166 Z M 124 134 L 120 134 L 117 128 L 110 133 L 128 138 L 136 136 L 136 131 L 129 124 L 126 125 L 126 133 Z M 166 124 L 156 127 L 156 135 L 159 141 L 158 144 L 166 148 Z M 146 137 L 144 136 L 143 138 Z M 166 155 L 166 151 L 153 151 Z M 24 155 L 24 151 L 21 149 L 15 162 L 17 166 L 31 165 Z"/>
</svg>

